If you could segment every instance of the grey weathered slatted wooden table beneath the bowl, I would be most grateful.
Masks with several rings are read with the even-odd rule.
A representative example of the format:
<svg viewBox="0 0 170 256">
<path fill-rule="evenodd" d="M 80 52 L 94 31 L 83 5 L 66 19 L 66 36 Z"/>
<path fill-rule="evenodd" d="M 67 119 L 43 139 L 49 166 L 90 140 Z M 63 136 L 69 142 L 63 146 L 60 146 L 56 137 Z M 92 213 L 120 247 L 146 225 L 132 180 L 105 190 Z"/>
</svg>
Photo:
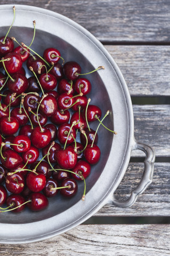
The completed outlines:
<svg viewBox="0 0 170 256">
<path fill-rule="evenodd" d="M 1 0 L 1 4 L 14 2 Z M 154 147 L 156 163 L 152 184 L 132 207 L 106 205 L 86 224 L 65 234 L 31 244 L 0 244 L 0 255 L 169 255 L 170 2 L 16 0 L 15 4 L 61 13 L 105 45 L 129 87 L 135 138 Z M 143 155 L 133 153 L 118 198 L 128 197 L 142 171 Z"/>
</svg>

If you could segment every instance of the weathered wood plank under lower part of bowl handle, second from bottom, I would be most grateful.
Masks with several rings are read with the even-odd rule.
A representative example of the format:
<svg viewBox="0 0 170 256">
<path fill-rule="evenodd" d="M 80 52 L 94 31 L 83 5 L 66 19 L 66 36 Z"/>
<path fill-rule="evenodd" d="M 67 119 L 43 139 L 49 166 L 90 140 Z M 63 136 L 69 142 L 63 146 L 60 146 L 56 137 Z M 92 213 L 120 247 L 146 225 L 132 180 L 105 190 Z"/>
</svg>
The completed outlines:
<svg viewBox="0 0 170 256">
<path fill-rule="evenodd" d="M 155 163 L 151 185 L 131 207 L 124 209 L 111 204 L 103 207 L 95 216 L 169 216 L 170 210 L 170 163 Z M 137 187 L 143 174 L 142 163 L 130 163 L 124 178 L 115 191 L 117 199 L 125 201 Z"/>
</svg>

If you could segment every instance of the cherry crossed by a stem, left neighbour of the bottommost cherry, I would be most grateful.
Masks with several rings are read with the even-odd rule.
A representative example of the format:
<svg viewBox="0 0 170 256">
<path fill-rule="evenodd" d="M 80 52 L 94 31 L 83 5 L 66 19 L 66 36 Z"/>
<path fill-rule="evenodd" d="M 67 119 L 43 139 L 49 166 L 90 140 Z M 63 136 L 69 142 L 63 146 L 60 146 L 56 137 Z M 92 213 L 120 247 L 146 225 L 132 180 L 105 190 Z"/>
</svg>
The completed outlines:
<svg viewBox="0 0 170 256">
<path fill-rule="evenodd" d="M 6 205 L 11 207 L 9 209 L 13 209 L 17 207 L 15 210 L 12 210 L 12 212 L 21 212 L 25 209 L 25 199 L 21 195 L 10 195 L 7 197 Z M 22 205 L 23 204 L 23 205 Z M 20 206 L 21 205 L 21 206 Z"/>
</svg>

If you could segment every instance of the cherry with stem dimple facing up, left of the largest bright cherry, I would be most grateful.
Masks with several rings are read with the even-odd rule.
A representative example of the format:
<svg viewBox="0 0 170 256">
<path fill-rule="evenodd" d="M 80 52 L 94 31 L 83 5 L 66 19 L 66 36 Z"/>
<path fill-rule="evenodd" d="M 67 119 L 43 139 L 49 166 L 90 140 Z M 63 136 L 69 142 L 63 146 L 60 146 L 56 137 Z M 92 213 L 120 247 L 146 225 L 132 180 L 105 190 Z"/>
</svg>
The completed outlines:
<svg viewBox="0 0 170 256">
<path fill-rule="evenodd" d="M 30 149 L 22 153 L 22 158 L 24 163 L 32 164 L 37 161 L 39 157 L 39 150 L 36 147 L 31 146 Z"/>
</svg>

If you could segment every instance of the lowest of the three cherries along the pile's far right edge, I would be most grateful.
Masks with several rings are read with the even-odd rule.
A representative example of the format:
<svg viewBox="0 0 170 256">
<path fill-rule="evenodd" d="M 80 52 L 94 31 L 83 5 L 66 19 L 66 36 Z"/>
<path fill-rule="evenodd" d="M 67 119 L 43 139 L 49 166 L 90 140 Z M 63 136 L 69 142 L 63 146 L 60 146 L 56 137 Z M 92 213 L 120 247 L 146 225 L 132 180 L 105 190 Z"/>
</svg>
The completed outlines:
<svg viewBox="0 0 170 256">
<path fill-rule="evenodd" d="M 89 164 L 96 164 L 100 158 L 100 149 L 95 144 L 92 147 L 88 144 L 83 154 Z"/>
</svg>

